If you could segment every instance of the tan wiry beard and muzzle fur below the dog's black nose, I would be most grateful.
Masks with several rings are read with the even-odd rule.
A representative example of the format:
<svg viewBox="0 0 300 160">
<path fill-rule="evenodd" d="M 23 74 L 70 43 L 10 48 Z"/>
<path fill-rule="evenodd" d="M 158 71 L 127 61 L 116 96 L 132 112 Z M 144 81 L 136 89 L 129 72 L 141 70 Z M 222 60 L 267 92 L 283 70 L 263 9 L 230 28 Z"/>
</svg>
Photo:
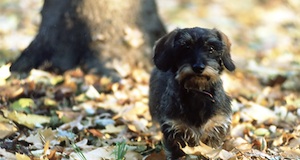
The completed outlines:
<svg viewBox="0 0 300 160">
<path fill-rule="evenodd" d="M 210 90 L 220 80 L 219 71 L 206 66 L 201 74 L 193 71 L 191 65 L 183 65 L 176 73 L 176 80 L 187 90 Z"/>
</svg>

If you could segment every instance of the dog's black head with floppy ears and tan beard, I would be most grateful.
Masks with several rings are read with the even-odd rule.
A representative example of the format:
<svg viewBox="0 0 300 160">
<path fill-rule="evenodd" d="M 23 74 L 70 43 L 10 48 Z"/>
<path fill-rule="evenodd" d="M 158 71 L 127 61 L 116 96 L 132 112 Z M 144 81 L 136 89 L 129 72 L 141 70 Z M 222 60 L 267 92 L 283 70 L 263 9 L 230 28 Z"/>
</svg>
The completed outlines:
<svg viewBox="0 0 300 160">
<path fill-rule="evenodd" d="M 153 60 L 159 70 L 176 72 L 185 88 L 205 90 L 219 81 L 224 67 L 235 70 L 230 45 L 217 29 L 176 29 L 156 42 Z"/>
</svg>

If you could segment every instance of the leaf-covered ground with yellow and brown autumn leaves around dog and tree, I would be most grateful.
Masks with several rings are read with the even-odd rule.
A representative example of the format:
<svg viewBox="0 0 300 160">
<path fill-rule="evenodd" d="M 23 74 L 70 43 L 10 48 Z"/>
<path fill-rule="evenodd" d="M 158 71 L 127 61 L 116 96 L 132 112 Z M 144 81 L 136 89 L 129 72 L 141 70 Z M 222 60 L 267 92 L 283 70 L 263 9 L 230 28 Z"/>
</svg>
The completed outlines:
<svg viewBox="0 0 300 160">
<path fill-rule="evenodd" d="M 187 159 L 300 159 L 300 1 L 158 1 L 169 30 L 222 30 L 237 70 L 222 75 L 232 129 L 222 148 Z M 0 159 L 164 159 L 148 112 L 149 73 L 130 66 L 118 83 L 74 69 L 9 72 L 34 38 L 41 0 L 0 2 Z"/>
</svg>

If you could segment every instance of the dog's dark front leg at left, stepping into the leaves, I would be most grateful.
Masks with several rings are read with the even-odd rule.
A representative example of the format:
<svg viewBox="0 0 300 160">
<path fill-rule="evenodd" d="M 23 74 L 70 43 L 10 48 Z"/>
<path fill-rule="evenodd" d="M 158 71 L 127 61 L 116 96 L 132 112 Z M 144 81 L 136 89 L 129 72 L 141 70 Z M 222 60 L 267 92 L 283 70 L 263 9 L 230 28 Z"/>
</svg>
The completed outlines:
<svg viewBox="0 0 300 160">
<path fill-rule="evenodd" d="M 180 160 L 181 157 L 185 156 L 185 153 L 180 149 L 180 146 L 185 146 L 181 133 L 175 133 L 170 125 L 164 124 L 161 126 L 167 160 Z"/>
</svg>

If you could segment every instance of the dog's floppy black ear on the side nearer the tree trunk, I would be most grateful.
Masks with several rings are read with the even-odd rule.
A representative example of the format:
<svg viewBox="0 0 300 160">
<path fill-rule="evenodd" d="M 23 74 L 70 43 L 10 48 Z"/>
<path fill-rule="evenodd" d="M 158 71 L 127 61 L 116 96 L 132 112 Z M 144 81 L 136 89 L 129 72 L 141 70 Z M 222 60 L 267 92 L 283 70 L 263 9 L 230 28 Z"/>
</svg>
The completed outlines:
<svg viewBox="0 0 300 160">
<path fill-rule="evenodd" d="M 166 34 L 158 41 L 156 41 L 154 50 L 153 61 L 155 66 L 162 70 L 169 70 L 175 62 L 175 36 L 177 35 L 179 29 Z"/>
</svg>

